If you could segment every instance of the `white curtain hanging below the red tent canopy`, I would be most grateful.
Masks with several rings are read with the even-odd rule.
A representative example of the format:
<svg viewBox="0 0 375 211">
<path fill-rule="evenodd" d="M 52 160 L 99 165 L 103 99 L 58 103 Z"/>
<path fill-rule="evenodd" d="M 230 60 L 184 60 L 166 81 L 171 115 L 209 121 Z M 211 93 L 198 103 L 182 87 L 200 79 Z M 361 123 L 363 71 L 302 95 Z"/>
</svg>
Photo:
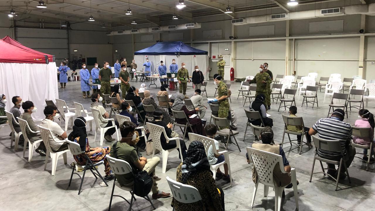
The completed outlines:
<svg viewBox="0 0 375 211">
<path fill-rule="evenodd" d="M 45 118 L 45 99 L 56 102 L 58 98 L 56 63 L 0 63 L 0 94 L 5 94 L 7 99 L 5 110 L 13 107 L 13 96 L 20 96 L 23 101 L 33 101 L 37 107 L 32 115 L 34 120 Z M 23 113 L 22 107 L 20 110 Z"/>
</svg>

